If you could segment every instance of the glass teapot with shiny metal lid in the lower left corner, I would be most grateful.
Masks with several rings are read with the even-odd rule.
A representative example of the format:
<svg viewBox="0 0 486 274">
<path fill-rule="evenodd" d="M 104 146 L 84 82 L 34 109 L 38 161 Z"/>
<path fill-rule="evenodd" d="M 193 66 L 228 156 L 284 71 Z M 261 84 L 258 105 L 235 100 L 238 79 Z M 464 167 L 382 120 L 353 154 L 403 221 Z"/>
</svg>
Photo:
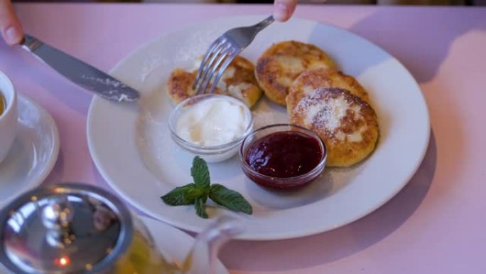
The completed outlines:
<svg viewBox="0 0 486 274">
<path fill-rule="evenodd" d="M 185 260 L 170 262 L 116 196 L 58 184 L 28 191 L 1 211 L 0 263 L 15 274 L 209 274 L 220 246 L 241 232 L 234 218 L 219 218 Z"/>
</svg>

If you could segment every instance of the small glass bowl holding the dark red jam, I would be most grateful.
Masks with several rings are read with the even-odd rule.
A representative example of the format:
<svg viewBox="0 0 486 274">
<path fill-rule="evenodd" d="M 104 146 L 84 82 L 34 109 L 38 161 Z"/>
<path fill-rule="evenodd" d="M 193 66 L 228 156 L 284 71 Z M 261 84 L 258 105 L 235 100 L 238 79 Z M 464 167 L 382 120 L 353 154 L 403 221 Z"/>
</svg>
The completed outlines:
<svg viewBox="0 0 486 274">
<path fill-rule="evenodd" d="M 315 166 L 313 169 L 311 169 L 311 171 L 307 172 L 306 174 L 293 176 L 293 177 L 286 177 L 286 178 L 267 176 L 264 174 L 260 174 L 259 172 L 252 169 L 252 167 L 249 166 L 249 164 L 244 159 L 244 157 L 247 152 L 247 149 L 253 143 L 253 141 L 274 132 L 286 132 L 286 131 L 303 132 L 306 135 L 318 140 L 320 149 L 322 151 L 322 157 L 318 165 Z M 307 130 L 306 128 L 300 127 L 298 125 L 288 125 L 288 124 L 268 125 L 266 127 L 261 127 L 258 130 L 255 130 L 254 132 L 247 135 L 247 137 L 242 142 L 242 146 L 239 149 L 239 160 L 241 163 L 243 173 L 247 175 L 248 178 L 254 181 L 256 184 L 273 188 L 273 189 L 294 189 L 299 186 L 304 186 L 306 184 L 311 183 L 311 181 L 313 181 L 323 172 L 327 157 L 328 157 L 328 149 L 325 147 L 325 143 L 323 142 L 323 140 L 320 139 L 320 137 L 317 134 L 315 134 L 315 132 L 311 130 Z"/>
</svg>

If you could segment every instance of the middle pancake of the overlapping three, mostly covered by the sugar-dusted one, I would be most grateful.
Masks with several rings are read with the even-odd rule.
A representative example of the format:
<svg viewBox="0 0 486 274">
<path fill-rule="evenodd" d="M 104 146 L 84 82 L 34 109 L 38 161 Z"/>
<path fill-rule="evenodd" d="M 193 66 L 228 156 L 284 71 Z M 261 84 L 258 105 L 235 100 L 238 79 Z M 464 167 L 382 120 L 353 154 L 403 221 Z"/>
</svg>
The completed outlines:
<svg viewBox="0 0 486 274">
<path fill-rule="evenodd" d="M 316 88 L 342 88 L 369 103 L 368 93 L 352 76 L 338 70 L 316 68 L 304 71 L 293 81 L 286 97 L 288 112 L 293 110 L 301 98 Z"/>
</svg>

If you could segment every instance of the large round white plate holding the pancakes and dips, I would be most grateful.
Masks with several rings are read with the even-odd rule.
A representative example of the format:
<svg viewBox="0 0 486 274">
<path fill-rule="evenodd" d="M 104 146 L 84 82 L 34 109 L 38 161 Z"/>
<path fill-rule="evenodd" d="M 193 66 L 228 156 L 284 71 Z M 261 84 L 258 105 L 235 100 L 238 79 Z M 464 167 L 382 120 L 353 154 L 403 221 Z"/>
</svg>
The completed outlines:
<svg viewBox="0 0 486 274">
<path fill-rule="evenodd" d="M 192 157 L 171 140 L 167 127 L 173 106 L 164 83 L 176 66 L 193 59 L 228 28 L 247 26 L 265 16 L 204 21 L 151 41 L 122 60 L 112 74 L 142 93 L 134 105 L 94 98 L 87 118 L 92 158 L 104 179 L 126 200 L 155 218 L 189 231 L 207 224 L 191 206 L 171 207 L 159 198 L 191 182 Z M 254 214 L 241 216 L 249 240 L 295 238 L 328 231 L 361 218 L 392 198 L 416 172 L 428 146 L 428 110 L 419 85 L 398 60 L 373 43 L 340 28 L 292 19 L 274 23 L 242 56 L 256 61 L 271 43 L 297 40 L 327 51 L 347 74 L 369 91 L 379 117 L 380 139 L 369 159 L 350 169 L 326 169 L 320 179 L 294 192 L 262 189 L 249 181 L 234 157 L 210 164 L 213 182 L 242 193 Z M 256 127 L 287 122 L 284 107 L 261 100 L 254 107 Z M 211 208 L 210 216 L 233 214 Z"/>
</svg>

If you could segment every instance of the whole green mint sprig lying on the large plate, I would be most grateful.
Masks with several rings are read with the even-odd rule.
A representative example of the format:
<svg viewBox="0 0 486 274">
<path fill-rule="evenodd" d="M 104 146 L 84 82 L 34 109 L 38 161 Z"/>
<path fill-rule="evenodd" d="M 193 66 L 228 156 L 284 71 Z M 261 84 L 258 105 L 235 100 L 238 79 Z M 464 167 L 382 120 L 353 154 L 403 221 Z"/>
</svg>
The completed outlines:
<svg viewBox="0 0 486 274">
<path fill-rule="evenodd" d="M 208 218 L 206 213 L 206 201 L 209 197 L 216 204 L 224 206 L 231 211 L 252 214 L 252 205 L 244 199 L 242 194 L 228 189 L 221 184 L 211 184 L 209 169 L 204 159 L 194 157 L 190 175 L 194 182 L 179 186 L 161 196 L 164 203 L 169 206 L 187 206 L 193 204 L 196 214 L 201 218 Z"/>
</svg>

